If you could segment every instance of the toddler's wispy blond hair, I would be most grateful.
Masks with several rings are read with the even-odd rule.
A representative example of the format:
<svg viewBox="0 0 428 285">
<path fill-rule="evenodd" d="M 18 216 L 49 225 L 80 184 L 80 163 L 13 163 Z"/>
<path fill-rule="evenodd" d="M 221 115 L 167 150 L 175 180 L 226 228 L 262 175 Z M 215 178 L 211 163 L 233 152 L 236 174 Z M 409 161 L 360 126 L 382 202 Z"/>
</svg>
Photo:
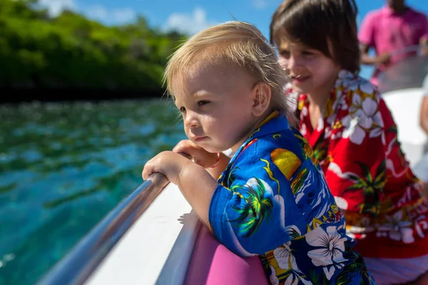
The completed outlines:
<svg viewBox="0 0 428 285">
<path fill-rule="evenodd" d="M 166 92 L 175 98 L 178 88 L 175 81 L 180 81 L 198 67 L 223 63 L 243 68 L 258 83 L 267 83 L 272 91 L 270 106 L 292 118 L 284 95 L 287 75 L 277 61 L 275 50 L 258 28 L 241 21 L 207 28 L 178 48 L 163 75 Z"/>
</svg>

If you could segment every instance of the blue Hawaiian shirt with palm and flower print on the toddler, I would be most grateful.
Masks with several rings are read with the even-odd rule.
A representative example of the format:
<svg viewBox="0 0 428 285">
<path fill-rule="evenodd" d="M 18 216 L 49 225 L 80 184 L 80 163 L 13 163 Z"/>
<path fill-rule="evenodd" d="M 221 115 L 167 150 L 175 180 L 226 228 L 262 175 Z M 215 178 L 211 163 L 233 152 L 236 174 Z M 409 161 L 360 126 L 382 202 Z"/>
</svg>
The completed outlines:
<svg viewBox="0 0 428 285">
<path fill-rule="evenodd" d="M 272 113 L 230 160 L 210 227 L 240 256 L 260 255 L 272 284 L 374 284 L 312 148 Z"/>
</svg>

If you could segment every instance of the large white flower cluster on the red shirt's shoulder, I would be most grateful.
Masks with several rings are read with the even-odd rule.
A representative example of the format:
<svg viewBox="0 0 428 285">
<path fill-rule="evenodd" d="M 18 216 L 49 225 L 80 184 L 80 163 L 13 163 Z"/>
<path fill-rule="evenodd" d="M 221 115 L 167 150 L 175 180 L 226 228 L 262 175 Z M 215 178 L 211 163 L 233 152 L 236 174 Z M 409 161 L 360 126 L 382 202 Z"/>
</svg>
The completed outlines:
<svg viewBox="0 0 428 285">
<path fill-rule="evenodd" d="M 367 133 L 370 138 L 378 137 L 383 132 L 383 120 L 377 109 L 377 102 L 370 97 L 361 100 L 358 93 L 352 96 L 350 114 L 342 119 L 345 130 L 342 138 L 350 138 L 352 142 L 361 145 Z"/>
</svg>

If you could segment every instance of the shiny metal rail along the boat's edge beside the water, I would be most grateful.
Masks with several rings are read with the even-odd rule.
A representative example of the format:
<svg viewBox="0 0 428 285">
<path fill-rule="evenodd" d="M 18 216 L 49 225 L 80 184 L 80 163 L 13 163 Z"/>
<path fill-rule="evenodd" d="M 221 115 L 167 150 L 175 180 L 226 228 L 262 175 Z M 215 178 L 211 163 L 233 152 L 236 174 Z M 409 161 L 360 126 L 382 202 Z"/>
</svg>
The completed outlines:
<svg viewBox="0 0 428 285">
<path fill-rule="evenodd" d="M 143 182 L 86 234 L 38 284 L 84 284 L 168 182 L 159 173 Z"/>
</svg>

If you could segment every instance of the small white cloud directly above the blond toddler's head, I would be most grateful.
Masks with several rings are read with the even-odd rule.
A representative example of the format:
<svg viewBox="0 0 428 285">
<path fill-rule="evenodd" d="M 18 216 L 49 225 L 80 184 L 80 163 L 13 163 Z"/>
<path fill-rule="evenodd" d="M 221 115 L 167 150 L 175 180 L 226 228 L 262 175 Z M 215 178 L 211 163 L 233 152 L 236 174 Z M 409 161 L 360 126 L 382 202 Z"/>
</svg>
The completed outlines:
<svg viewBox="0 0 428 285">
<path fill-rule="evenodd" d="M 196 8 L 193 14 L 170 14 L 164 26 L 165 30 L 177 30 L 182 33 L 194 34 L 205 28 L 215 25 L 207 20 L 204 9 Z"/>
</svg>

